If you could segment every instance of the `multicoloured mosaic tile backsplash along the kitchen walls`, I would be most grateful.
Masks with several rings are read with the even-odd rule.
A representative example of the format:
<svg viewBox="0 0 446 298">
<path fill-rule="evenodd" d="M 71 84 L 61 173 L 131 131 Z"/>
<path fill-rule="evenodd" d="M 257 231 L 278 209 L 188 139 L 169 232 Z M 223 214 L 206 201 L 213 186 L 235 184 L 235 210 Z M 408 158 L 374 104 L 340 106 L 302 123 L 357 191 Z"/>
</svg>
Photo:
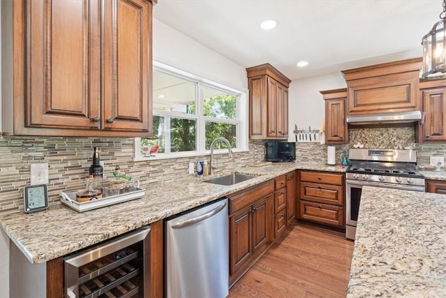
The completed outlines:
<svg viewBox="0 0 446 298">
<path fill-rule="evenodd" d="M 360 142 L 364 148 L 393 149 L 399 145 L 417 149 L 418 164 L 429 164 L 430 156 L 446 156 L 446 144 L 415 144 L 413 128 L 351 129 L 350 143 L 336 145 L 336 162 L 341 162 L 342 151 Z M 265 159 L 265 142 L 250 141 L 249 151 L 217 157 L 221 170 L 233 165 L 247 165 Z M 112 177 L 115 165 L 121 172 L 141 181 L 141 187 L 159 181 L 173 181 L 188 172 L 189 163 L 209 156 L 174 158 L 134 162 L 133 138 L 93 137 L 0 137 L 0 213 L 23 210 L 23 188 L 30 184 L 33 163 L 49 164 L 49 202 L 59 202 L 59 193 L 79 191 L 92 161 L 93 147 L 101 148 L 105 163 L 104 178 Z M 296 143 L 296 162 L 327 161 L 327 145 Z"/>
</svg>

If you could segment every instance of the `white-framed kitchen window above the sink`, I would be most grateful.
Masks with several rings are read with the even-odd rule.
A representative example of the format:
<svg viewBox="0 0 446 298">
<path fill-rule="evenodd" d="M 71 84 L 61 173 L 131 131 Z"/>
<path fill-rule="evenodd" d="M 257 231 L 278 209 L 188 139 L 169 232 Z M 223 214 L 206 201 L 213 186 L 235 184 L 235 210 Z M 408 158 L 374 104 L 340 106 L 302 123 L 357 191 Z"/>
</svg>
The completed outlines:
<svg viewBox="0 0 446 298">
<path fill-rule="evenodd" d="M 233 151 L 247 150 L 245 92 L 153 64 L 153 137 L 135 139 L 135 159 L 208 154 L 217 137 L 226 137 Z M 223 142 L 215 146 L 226 149 Z"/>
</svg>

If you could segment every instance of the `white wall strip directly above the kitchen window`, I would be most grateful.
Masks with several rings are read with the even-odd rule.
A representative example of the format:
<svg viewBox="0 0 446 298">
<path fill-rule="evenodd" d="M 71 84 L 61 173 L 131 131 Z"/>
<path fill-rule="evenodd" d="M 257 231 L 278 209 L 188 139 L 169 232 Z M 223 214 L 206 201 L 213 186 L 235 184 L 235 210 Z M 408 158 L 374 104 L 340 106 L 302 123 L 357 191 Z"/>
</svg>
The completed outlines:
<svg viewBox="0 0 446 298">
<path fill-rule="evenodd" d="M 243 66 L 156 19 L 153 19 L 153 60 L 240 91 L 247 90 Z"/>
</svg>

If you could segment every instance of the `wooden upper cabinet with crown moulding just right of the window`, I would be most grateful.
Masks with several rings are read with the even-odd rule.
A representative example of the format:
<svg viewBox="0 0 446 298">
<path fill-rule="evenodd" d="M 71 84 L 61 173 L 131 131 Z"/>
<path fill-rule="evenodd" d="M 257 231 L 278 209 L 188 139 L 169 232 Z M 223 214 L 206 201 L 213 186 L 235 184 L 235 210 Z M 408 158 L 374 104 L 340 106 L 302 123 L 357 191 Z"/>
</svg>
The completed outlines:
<svg viewBox="0 0 446 298">
<path fill-rule="evenodd" d="M 247 68 L 249 138 L 288 139 L 288 88 L 291 80 L 270 64 Z"/>
</svg>

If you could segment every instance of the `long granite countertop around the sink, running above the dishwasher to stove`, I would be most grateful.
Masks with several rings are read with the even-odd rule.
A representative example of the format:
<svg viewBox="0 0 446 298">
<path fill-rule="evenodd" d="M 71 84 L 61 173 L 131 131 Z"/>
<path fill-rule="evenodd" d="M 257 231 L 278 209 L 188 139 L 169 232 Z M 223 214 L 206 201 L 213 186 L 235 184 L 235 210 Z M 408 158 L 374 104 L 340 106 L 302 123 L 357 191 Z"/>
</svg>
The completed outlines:
<svg viewBox="0 0 446 298">
<path fill-rule="evenodd" d="M 255 174 L 256 178 L 234 186 L 201 183 L 188 175 L 146 188 L 144 198 L 109 207 L 78 213 L 62 204 L 35 214 L 24 212 L 0 215 L 1 228 L 31 263 L 41 263 L 79 251 L 178 214 L 206 202 L 222 198 L 249 186 L 260 184 L 295 169 L 345 172 L 346 167 L 321 163 L 273 163 L 264 166 L 238 167 L 234 172 Z M 213 174 L 212 177 L 224 173 Z"/>
</svg>

